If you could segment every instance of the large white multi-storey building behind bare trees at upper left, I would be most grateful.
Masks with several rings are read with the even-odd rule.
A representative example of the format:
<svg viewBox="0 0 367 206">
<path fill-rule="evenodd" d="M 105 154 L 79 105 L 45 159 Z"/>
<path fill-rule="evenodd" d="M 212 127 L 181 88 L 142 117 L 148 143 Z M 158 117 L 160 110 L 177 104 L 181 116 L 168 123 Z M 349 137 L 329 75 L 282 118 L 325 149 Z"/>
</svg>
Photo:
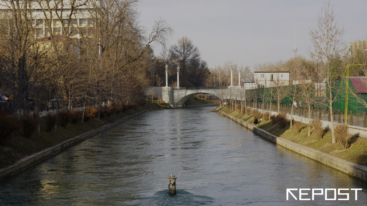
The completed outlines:
<svg viewBox="0 0 367 206">
<path fill-rule="evenodd" d="M 98 0 L 76 1 L 0 1 L 1 23 L 12 18 L 12 12 L 20 8 L 32 22 L 34 38 L 63 36 L 81 39 L 82 35 L 90 37 L 94 33 L 95 8 Z"/>
</svg>

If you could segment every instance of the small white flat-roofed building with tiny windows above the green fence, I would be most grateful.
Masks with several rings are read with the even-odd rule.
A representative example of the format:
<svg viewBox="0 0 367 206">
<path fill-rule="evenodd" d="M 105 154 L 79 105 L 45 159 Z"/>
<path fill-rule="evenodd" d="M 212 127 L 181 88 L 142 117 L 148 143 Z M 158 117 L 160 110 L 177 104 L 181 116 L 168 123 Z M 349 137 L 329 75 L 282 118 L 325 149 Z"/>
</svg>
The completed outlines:
<svg viewBox="0 0 367 206">
<path fill-rule="evenodd" d="M 260 87 L 278 87 L 289 85 L 289 71 L 255 71 L 254 82 Z"/>
</svg>

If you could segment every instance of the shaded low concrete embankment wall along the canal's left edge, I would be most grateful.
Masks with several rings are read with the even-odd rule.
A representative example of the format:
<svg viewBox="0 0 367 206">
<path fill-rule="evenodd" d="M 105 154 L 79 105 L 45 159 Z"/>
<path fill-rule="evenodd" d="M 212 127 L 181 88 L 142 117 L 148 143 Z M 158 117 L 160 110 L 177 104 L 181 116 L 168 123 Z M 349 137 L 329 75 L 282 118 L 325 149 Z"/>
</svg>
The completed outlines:
<svg viewBox="0 0 367 206">
<path fill-rule="evenodd" d="M 72 146 L 73 144 L 79 143 L 79 142 L 81 142 L 81 141 L 83 141 L 83 140 L 85 140 L 85 139 L 87 139 L 91 136 L 94 136 L 94 135 L 98 134 L 99 132 L 102 132 L 106 129 L 109 129 L 109 128 L 117 125 L 117 124 L 120 124 L 121 122 L 124 122 L 124 121 L 132 118 L 132 117 L 135 117 L 139 114 L 145 113 L 146 111 L 149 111 L 149 110 L 160 110 L 160 109 L 163 109 L 163 108 L 148 109 L 148 110 L 144 110 L 144 111 L 129 115 L 129 116 L 123 118 L 123 119 L 119 119 L 116 122 L 101 126 L 98 129 L 95 129 L 95 130 L 83 133 L 81 135 L 78 135 L 78 136 L 76 136 L 72 139 L 66 140 L 66 141 L 64 141 L 64 142 L 62 142 L 62 143 L 60 143 L 60 144 L 58 144 L 54 147 L 47 148 L 46 150 L 40 151 L 40 152 L 38 152 L 34 155 L 25 157 L 25 158 L 19 160 L 14 165 L 8 166 L 7 168 L 0 170 L 0 180 L 3 180 L 8 176 L 11 176 L 11 175 L 13 175 L 13 174 L 25 169 L 25 168 L 28 168 L 29 166 L 31 166 L 31 165 L 33 165 L 33 164 L 35 164 L 35 163 L 37 163 L 37 162 L 39 162 L 43 159 L 46 159 L 47 157 L 50 157 L 51 155 L 56 154 L 57 152 L 65 149 L 67 147 Z"/>
</svg>

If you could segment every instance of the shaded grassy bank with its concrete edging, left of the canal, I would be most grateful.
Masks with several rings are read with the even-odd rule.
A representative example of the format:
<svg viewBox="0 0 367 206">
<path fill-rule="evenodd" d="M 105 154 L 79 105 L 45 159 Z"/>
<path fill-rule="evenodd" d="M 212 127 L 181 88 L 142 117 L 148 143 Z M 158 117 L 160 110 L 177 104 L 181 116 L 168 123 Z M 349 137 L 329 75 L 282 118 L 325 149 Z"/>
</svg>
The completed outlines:
<svg viewBox="0 0 367 206">
<path fill-rule="evenodd" d="M 58 126 L 56 130 L 47 131 L 41 128 L 40 134 L 33 132 L 30 137 L 21 135 L 21 131 L 14 132 L 12 137 L 0 146 L 0 180 L 33 163 L 44 159 L 63 148 L 86 139 L 98 132 L 131 118 L 134 114 L 164 108 L 155 103 L 146 103 L 144 106 L 131 108 L 118 114 L 110 114 L 103 118 L 92 118 L 81 124 L 67 124 Z M 43 154 L 39 154 L 39 153 Z M 14 168 L 15 165 L 18 165 Z"/>
</svg>

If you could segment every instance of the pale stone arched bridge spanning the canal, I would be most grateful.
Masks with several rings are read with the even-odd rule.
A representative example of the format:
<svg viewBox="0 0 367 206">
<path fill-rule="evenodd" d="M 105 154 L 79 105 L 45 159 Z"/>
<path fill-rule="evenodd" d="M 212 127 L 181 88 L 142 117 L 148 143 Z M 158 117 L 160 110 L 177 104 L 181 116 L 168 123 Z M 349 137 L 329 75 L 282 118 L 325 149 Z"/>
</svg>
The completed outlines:
<svg viewBox="0 0 367 206">
<path fill-rule="evenodd" d="M 146 95 L 156 96 L 170 104 L 171 107 L 183 107 L 192 96 L 208 93 L 223 99 L 229 87 L 152 87 L 146 89 Z M 232 87 L 235 88 L 235 87 Z M 240 88 L 240 87 L 238 87 Z"/>
</svg>

